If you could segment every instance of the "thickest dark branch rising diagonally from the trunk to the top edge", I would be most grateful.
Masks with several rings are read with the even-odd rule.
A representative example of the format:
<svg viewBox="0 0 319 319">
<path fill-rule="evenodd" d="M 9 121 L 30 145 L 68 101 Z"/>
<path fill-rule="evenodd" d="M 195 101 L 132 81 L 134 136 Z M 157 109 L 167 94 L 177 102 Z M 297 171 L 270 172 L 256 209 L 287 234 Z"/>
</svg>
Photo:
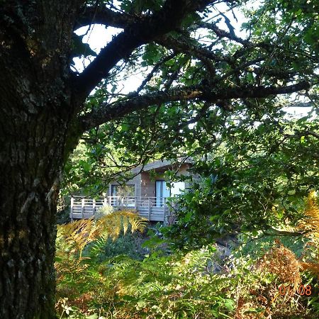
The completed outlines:
<svg viewBox="0 0 319 319">
<path fill-rule="evenodd" d="M 187 14 L 204 9 L 214 1 L 167 0 L 162 10 L 125 28 L 77 77 L 74 89 L 79 100 L 84 101 L 101 79 L 107 77 L 111 68 L 121 59 L 128 57 L 136 47 L 179 28 Z"/>
</svg>

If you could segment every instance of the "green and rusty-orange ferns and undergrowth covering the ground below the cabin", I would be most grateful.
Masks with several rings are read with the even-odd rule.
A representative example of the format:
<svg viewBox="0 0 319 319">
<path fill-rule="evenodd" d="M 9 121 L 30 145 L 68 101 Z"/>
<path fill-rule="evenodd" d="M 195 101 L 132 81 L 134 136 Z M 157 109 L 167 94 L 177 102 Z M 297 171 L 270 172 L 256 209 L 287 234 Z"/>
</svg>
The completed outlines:
<svg viewBox="0 0 319 319">
<path fill-rule="evenodd" d="M 312 218 L 308 246 L 313 244 L 311 253 L 318 258 L 315 205 L 309 197 L 305 218 Z M 145 221 L 130 212 L 113 214 L 107 216 L 112 227 L 94 220 L 60 226 L 60 318 L 318 318 L 318 259 L 306 250 L 299 254 L 305 242 L 294 244 L 296 255 L 272 238 L 254 257 L 238 250 L 217 273 L 216 245 L 172 254 L 152 247 L 150 254 L 134 254 L 139 236 L 132 230 L 142 231 Z"/>
</svg>

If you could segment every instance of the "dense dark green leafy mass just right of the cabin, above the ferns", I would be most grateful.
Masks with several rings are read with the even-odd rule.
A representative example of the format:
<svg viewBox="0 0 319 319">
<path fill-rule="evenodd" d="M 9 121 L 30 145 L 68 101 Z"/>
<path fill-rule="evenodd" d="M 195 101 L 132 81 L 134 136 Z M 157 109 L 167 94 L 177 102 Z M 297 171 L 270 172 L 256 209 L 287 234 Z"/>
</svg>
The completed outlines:
<svg viewBox="0 0 319 319">
<path fill-rule="evenodd" d="M 303 197 L 318 187 L 318 124 L 311 112 L 298 119 L 276 113 L 259 123 L 234 119 L 191 169 L 199 178 L 179 198 L 169 230 L 175 244 L 201 247 L 223 234 L 296 225 Z"/>
</svg>

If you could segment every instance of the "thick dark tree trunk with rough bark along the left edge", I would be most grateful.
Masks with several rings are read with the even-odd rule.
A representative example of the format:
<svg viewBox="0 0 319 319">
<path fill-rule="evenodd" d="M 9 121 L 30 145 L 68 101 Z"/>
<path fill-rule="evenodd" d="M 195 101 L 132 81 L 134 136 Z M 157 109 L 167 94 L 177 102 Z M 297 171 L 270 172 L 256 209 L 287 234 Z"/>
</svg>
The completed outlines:
<svg viewBox="0 0 319 319">
<path fill-rule="evenodd" d="M 0 6 L 0 318 L 55 318 L 55 212 L 81 1 Z"/>
</svg>

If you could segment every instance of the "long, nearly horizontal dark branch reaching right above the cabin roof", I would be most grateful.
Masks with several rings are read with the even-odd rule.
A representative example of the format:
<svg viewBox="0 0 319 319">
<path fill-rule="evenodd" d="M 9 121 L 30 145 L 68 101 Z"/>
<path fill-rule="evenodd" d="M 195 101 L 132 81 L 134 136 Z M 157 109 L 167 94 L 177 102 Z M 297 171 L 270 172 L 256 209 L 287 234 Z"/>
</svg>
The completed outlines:
<svg viewBox="0 0 319 319">
<path fill-rule="evenodd" d="M 270 95 L 289 94 L 309 89 L 309 87 L 308 82 L 301 82 L 289 86 L 246 86 L 240 90 L 237 88 L 220 89 L 217 93 L 215 90 L 211 90 L 211 88 L 206 88 L 205 86 L 182 87 L 169 91 L 157 91 L 152 94 L 134 96 L 125 101 L 104 103 L 101 105 L 101 108 L 80 117 L 79 121 L 82 132 L 84 132 L 97 125 L 156 104 L 195 99 L 201 99 L 210 103 L 220 103 L 220 101 L 228 101 L 230 99 L 258 99 Z"/>
</svg>

